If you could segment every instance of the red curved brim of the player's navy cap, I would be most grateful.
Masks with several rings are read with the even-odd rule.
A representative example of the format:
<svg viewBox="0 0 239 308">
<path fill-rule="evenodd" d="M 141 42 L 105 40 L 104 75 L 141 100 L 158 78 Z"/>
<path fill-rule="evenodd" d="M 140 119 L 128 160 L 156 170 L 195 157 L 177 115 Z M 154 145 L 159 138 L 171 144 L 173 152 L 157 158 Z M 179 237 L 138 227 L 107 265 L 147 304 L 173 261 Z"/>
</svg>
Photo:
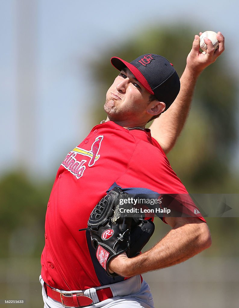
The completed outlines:
<svg viewBox="0 0 239 308">
<path fill-rule="evenodd" d="M 133 64 L 126 62 L 118 57 L 111 58 L 111 64 L 118 70 L 121 71 L 122 68 L 128 67 L 134 77 L 142 84 L 142 86 L 151 94 L 154 94 L 154 91 L 150 88 L 147 80 L 145 79 L 144 75 L 135 67 Z"/>
</svg>

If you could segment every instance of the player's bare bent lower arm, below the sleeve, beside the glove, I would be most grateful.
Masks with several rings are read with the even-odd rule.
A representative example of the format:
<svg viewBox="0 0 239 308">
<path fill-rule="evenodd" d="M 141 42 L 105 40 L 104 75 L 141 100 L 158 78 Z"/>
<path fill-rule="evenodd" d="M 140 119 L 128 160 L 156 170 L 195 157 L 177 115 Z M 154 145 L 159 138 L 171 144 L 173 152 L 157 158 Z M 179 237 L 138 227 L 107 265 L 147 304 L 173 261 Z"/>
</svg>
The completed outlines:
<svg viewBox="0 0 239 308">
<path fill-rule="evenodd" d="M 109 269 L 131 277 L 178 264 L 210 247 L 210 231 L 199 218 L 166 217 L 165 221 L 172 229 L 153 248 L 133 258 L 121 254 L 110 262 Z"/>
</svg>

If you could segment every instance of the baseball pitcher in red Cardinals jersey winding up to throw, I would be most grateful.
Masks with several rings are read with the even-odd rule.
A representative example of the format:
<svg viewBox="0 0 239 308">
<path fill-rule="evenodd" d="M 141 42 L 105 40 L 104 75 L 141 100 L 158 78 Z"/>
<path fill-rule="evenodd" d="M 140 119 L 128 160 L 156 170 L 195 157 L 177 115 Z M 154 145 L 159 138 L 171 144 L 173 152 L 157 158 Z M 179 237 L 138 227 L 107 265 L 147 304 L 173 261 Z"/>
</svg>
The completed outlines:
<svg viewBox="0 0 239 308">
<path fill-rule="evenodd" d="M 116 232 L 111 223 L 99 237 L 100 245 L 94 247 L 90 228 L 95 224 L 89 217 L 94 213 L 99 223 L 97 215 L 107 206 L 111 209 L 114 195 L 187 195 L 165 152 L 182 130 L 198 76 L 224 50 L 220 32 L 217 38 L 216 52 L 205 39 L 208 50 L 203 55 L 199 36 L 195 36 L 180 79 L 181 89 L 174 67 L 160 55 L 148 53 L 131 63 L 111 59 L 119 75 L 106 94 L 107 119 L 66 155 L 47 204 L 40 276 L 45 308 L 152 308 L 152 295 L 141 274 L 185 261 L 211 245 L 207 224 L 197 210 L 194 217 L 162 217 L 172 229 L 147 252 L 129 257 L 127 241 L 127 247 L 111 257 L 115 243 L 120 246 L 125 234 L 130 234 L 129 228 L 108 249 L 107 241 Z M 145 129 L 152 119 L 150 129 Z M 110 198 L 114 198 L 111 203 Z M 186 208 L 191 210 L 192 206 L 195 208 L 188 202 Z M 114 223 L 116 208 L 112 213 Z"/>
</svg>

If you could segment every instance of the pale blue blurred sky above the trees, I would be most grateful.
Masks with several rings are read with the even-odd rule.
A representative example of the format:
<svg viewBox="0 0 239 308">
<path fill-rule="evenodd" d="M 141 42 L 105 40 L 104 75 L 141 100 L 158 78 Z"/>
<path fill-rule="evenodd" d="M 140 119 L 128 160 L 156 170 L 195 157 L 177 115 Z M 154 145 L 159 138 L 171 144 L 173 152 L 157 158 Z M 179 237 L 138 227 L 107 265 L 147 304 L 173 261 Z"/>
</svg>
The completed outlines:
<svg viewBox="0 0 239 308">
<path fill-rule="evenodd" d="M 97 93 L 87 67 L 89 59 L 121 44 L 142 24 L 170 27 L 183 22 L 198 26 L 198 31 L 220 30 L 226 38 L 228 65 L 239 69 L 238 1 L 86 3 L 0 0 L 1 173 L 19 166 L 33 176 L 56 172 L 65 154 L 92 128 L 90 102 Z M 30 19 L 30 26 L 25 25 L 30 28 L 30 41 L 21 32 L 24 14 L 26 22 Z M 30 49 L 26 55 L 21 50 L 24 39 Z M 32 65 L 35 78 L 29 81 Z M 25 79 L 28 95 L 33 93 L 28 106 L 18 98 L 19 84 Z M 104 99 L 99 98 L 102 106 Z M 28 123 L 27 134 L 21 136 Z"/>
</svg>

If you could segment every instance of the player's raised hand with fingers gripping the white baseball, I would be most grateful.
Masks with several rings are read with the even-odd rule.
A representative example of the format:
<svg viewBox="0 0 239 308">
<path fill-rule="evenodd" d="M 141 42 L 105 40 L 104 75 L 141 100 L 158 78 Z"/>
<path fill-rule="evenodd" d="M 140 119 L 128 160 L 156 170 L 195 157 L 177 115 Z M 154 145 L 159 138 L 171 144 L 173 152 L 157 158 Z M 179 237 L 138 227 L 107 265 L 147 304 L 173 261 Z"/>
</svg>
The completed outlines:
<svg viewBox="0 0 239 308">
<path fill-rule="evenodd" d="M 202 32 L 199 33 L 200 35 Z M 187 56 L 187 68 L 192 70 L 196 74 L 200 74 L 208 65 L 216 61 L 218 56 L 225 50 L 224 36 L 221 32 L 217 32 L 216 38 L 219 42 L 219 48 L 214 51 L 214 47 L 210 39 L 204 38 L 204 42 L 207 45 L 207 52 L 204 54 L 200 51 L 200 38 L 195 35 L 192 43 L 192 49 Z"/>
</svg>

